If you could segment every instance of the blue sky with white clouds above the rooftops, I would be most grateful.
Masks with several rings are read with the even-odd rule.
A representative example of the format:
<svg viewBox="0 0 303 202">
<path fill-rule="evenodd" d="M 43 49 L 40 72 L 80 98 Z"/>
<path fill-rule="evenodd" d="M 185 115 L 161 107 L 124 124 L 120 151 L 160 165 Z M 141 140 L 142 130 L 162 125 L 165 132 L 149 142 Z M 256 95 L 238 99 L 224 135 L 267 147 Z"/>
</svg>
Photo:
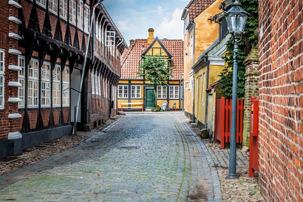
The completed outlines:
<svg viewBox="0 0 303 202">
<path fill-rule="evenodd" d="M 190 0 L 105 0 L 105 8 L 122 33 L 130 39 L 147 38 L 148 28 L 155 37 L 183 39 L 181 14 Z"/>
</svg>

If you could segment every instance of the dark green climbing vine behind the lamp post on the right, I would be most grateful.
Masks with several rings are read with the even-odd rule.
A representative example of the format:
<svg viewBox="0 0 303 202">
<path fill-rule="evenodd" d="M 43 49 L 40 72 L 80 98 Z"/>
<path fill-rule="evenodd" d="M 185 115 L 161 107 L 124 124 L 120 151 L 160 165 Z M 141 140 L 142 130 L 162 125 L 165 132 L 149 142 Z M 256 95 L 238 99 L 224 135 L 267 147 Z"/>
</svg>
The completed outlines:
<svg viewBox="0 0 303 202">
<path fill-rule="evenodd" d="M 258 39 L 254 32 L 258 28 L 258 0 L 241 0 L 242 8 L 250 15 L 247 18 L 243 39 L 239 44 L 238 52 L 238 98 L 244 98 L 245 92 L 245 65 L 244 60 L 249 54 L 251 47 L 255 46 Z M 232 95 L 232 74 L 233 74 L 233 40 L 227 43 L 227 54 L 223 57 L 227 66 L 220 73 L 223 95 L 230 99 Z"/>
</svg>

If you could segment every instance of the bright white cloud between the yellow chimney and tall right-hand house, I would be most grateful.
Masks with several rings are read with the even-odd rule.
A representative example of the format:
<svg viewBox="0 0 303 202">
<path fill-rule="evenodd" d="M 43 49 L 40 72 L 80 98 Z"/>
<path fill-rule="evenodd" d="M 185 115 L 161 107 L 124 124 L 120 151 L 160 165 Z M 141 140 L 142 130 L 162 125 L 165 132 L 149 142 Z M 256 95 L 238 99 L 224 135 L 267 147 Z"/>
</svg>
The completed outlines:
<svg viewBox="0 0 303 202">
<path fill-rule="evenodd" d="M 164 17 L 162 23 L 155 30 L 160 38 L 183 39 L 183 24 L 181 20 L 183 9 L 175 9 L 171 19 Z"/>
</svg>

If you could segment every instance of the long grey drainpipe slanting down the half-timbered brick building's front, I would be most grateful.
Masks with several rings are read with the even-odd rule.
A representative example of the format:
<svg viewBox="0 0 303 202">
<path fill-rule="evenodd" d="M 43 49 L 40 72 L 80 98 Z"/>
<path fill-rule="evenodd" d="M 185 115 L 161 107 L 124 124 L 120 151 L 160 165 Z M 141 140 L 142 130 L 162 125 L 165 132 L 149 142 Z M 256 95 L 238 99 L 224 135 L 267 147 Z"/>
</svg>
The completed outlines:
<svg viewBox="0 0 303 202">
<path fill-rule="evenodd" d="M 102 3 L 104 0 L 98 0 L 98 2 L 92 6 L 92 15 L 91 15 L 91 21 L 90 21 L 90 26 L 89 26 L 89 33 L 88 33 L 88 39 L 90 39 L 91 35 L 91 29 L 93 26 L 94 22 L 94 13 L 96 10 L 96 6 L 98 6 L 100 3 Z M 86 61 L 87 61 L 87 52 L 88 52 L 88 45 L 89 41 L 87 41 L 86 48 L 85 48 L 85 55 L 84 55 L 84 62 L 83 62 L 83 67 L 82 67 L 82 74 L 81 74 L 81 80 L 80 80 L 80 87 L 79 87 L 79 94 L 78 94 L 78 101 L 77 101 L 77 106 L 76 106 L 76 115 L 75 115 L 75 120 L 74 120 L 74 128 L 73 128 L 73 135 L 76 132 L 76 125 L 77 125 L 77 119 L 78 119 L 78 111 L 79 111 L 79 104 L 80 104 L 80 99 L 81 99 L 81 90 L 82 90 L 82 85 L 83 85 L 83 79 L 84 79 L 84 73 L 85 73 L 85 66 L 86 66 Z M 93 47 L 94 48 L 94 47 Z"/>
</svg>

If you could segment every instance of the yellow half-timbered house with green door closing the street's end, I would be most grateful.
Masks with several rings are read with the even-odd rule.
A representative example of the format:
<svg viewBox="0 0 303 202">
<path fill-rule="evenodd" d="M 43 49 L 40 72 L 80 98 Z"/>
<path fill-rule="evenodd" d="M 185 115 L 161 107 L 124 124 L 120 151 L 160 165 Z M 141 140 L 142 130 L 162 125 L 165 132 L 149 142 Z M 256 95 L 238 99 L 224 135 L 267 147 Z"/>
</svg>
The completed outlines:
<svg viewBox="0 0 303 202">
<path fill-rule="evenodd" d="M 159 39 L 154 37 L 154 29 L 148 29 L 147 39 L 130 40 L 130 45 L 122 55 L 121 79 L 118 85 L 118 108 L 123 111 L 143 110 L 155 107 L 154 86 L 137 75 L 142 56 L 160 55 L 171 59 L 172 77 L 168 87 L 157 86 L 157 104 L 163 102 L 168 107 L 181 109 L 183 97 L 183 40 Z M 174 105 L 175 104 L 175 105 Z"/>
</svg>

